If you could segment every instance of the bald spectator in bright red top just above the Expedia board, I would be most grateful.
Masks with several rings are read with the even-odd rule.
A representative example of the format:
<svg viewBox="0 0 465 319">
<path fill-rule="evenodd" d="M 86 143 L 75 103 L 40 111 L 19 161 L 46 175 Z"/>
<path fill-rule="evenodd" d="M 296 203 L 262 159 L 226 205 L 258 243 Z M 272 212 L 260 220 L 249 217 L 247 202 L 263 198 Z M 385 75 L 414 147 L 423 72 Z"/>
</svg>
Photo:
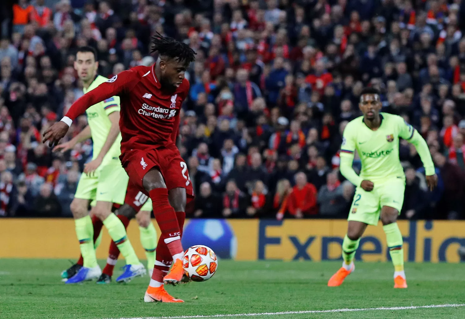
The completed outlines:
<svg viewBox="0 0 465 319">
<path fill-rule="evenodd" d="M 289 195 L 287 208 L 289 213 L 295 218 L 303 218 L 305 215 L 316 215 L 317 194 L 318 191 L 312 183 L 307 182 L 307 176 L 304 172 L 295 175 L 296 185 L 292 188 Z"/>
</svg>

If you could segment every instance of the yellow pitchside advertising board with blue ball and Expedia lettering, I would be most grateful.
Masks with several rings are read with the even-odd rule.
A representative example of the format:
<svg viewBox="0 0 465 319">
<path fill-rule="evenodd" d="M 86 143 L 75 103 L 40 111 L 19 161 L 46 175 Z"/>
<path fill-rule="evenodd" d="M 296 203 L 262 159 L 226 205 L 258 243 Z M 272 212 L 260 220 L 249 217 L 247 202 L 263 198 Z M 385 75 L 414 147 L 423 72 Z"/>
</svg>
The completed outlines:
<svg viewBox="0 0 465 319">
<path fill-rule="evenodd" d="M 156 222 L 153 221 L 156 225 Z M 345 220 L 189 220 L 183 246 L 203 244 L 220 258 L 235 260 L 339 260 L 347 227 Z M 159 234 L 159 228 L 156 226 Z M 465 246 L 465 221 L 399 221 L 405 260 L 459 262 Z M 105 229 L 105 228 L 104 228 Z M 131 222 L 129 239 L 141 259 L 139 229 Z M 79 255 L 72 219 L 0 219 L 0 258 L 71 258 Z M 104 230 L 97 257 L 106 259 L 110 238 Z M 368 226 L 356 260 L 388 261 L 381 225 Z"/>
</svg>

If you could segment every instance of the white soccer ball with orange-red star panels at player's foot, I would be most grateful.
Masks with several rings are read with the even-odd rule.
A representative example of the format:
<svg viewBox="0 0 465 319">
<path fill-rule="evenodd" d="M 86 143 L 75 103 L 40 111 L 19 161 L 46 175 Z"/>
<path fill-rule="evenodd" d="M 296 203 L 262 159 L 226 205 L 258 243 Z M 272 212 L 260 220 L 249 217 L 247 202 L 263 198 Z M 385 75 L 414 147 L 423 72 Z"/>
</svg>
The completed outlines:
<svg viewBox="0 0 465 319">
<path fill-rule="evenodd" d="M 205 281 L 212 278 L 218 267 L 218 258 L 212 249 L 195 245 L 186 250 L 182 259 L 184 273 L 193 281 Z"/>
</svg>

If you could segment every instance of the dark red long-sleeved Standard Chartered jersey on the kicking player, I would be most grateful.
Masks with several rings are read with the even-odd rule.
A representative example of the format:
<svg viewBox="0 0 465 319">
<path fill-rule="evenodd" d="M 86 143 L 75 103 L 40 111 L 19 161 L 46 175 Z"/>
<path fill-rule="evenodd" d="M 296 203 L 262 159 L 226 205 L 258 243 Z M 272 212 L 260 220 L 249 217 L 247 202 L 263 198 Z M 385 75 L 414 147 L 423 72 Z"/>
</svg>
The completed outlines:
<svg viewBox="0 0 465 319">
<path fill-rule="evenodd" d="M 123 71 L 87 92 L 71 106 L 66 116 L 74 120 L 91 105 L 112 96 L 121 103 L 121 154 L 126 150 L 175 147 L 179 111 L 189 91 L 185 78 L 173 94 L 161 91 L 152 66 L 136 66 Z"/>
</svg>

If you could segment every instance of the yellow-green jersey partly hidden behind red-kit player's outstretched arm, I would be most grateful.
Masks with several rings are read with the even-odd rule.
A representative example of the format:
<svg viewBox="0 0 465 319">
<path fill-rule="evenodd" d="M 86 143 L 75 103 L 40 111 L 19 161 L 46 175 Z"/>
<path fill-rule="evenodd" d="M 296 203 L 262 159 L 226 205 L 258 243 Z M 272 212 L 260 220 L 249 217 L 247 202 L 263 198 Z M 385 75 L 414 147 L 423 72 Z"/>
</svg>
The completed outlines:
<svg viewBox="0 0 465 319">
<path fill-rule="evenodd" d="M 87 89 L 84 88 L 84 93 L 92 91 L 97 86 L 106 82 L 107 80 L 107 78 L 98 75 Z M 92 159 L 95 159 L 99 155 L 100 150 L 102 150 L 103 144 L 105 144 L 106 137 L 108 137 L 108 133 L 110 132 L 110 128 L 112 126 L 112 123 L 108 118 L 108 115 L 113 113 L 114 111 L 120 111 L 120 98 L 117 96 L 107 98 L 102 102 L 92 105 L 86 110 L 87 122 L 89 123 L 93 140 Z M 120 154 L 121 133 L 116 138 L 110 150 L 108 150 L 108 153 L 106 153 L 100 166 L 109 163 L 109 161 L 112 158 L 119 157 Z"/>
</svg>

